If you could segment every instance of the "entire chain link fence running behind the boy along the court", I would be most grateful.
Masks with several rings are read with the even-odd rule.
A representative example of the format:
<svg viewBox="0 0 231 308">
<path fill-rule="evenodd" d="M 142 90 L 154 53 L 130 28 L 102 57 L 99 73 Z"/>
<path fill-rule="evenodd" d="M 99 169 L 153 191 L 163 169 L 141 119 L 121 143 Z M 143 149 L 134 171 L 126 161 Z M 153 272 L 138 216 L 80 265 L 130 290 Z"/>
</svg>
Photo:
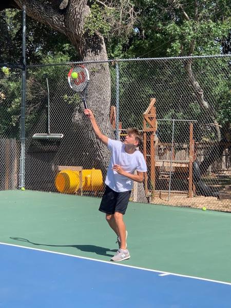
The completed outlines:
<svg viewBox="0 0 231 308">
<path fill-rule="evenodd" d="M 84 64 L 90 72 L 87 103 L 102 132 L 121 141 L 127 127 L 143 133 L 140 150 L 148 172 L 144 184 L 134 183 L 133 201 L 231 210 L 230 60 L 208 56 Z M 71 67 L 27 68 L 25 187 L 101 197 L 110 153 L 95 139 L 80 97 L 68 85 Z M 1 138 L 18 144 L 20 71 L 1 74 Z M 35 133 L 48 132 L 48 118 L 50 132 L 63 138 L 34 140 Z M 4 148 L 18 156 L 18 148 L 2 144 L 1 153 Z M 6 153 L 1 155 L 5 166 L 13 165 Z M 15 161 L 18 170 L 18 157 Z M 6 185 L 9 171 L 4 168 L 1 189 L 13 189 L 17 182 Z"/>
</svg>

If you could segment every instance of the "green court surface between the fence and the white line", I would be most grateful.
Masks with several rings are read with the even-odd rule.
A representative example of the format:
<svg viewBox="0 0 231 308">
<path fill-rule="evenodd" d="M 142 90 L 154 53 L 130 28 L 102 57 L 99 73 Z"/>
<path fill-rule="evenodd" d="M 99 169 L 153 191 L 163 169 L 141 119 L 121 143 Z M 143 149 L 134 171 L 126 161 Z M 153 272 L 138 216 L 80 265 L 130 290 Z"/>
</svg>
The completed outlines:
<svg viewBox="0 0 231 308">
<path fill-rule="evenodd" d="M 109 261 L 116 237 L 100 199 L 37 191 L 0 192 L 0 242 Z M 123 264 L 231 282 L 231 215 L 129 203 L 131 255 Z"/>
</svg>

